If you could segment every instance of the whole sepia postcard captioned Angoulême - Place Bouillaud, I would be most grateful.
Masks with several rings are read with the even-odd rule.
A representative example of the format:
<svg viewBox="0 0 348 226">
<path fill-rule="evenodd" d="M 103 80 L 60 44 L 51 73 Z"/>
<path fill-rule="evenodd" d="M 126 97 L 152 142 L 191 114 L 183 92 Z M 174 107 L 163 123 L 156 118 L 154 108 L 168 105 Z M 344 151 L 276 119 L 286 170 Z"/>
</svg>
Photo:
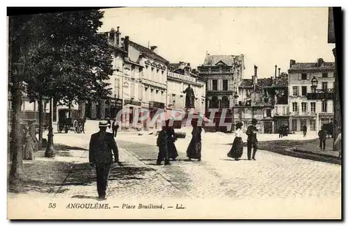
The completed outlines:
<svg viewBox="0 0 348 226">
<path fill-rule="evenodd" d="M 8 219 L 342 219 L 340 10 L 9 15 Z"/>
</svg>

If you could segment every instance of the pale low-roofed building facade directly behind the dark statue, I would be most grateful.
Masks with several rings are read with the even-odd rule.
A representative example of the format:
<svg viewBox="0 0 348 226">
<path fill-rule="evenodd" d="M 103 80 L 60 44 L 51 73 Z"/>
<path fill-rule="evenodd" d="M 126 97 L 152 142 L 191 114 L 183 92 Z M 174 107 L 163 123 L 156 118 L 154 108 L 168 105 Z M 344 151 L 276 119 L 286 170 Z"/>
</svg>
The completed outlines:
<svg viewBox="0 0 348 226">
<path fill-rule="evenodd" d="M 205 79 L 191 70 L 190 63 L 171 63 L 167 76 L 167 108 L 184 109 L 184 90 L 191 85 L 195 94 L 195 108 L 199 113 L 205 113 Z"/>
</svg>

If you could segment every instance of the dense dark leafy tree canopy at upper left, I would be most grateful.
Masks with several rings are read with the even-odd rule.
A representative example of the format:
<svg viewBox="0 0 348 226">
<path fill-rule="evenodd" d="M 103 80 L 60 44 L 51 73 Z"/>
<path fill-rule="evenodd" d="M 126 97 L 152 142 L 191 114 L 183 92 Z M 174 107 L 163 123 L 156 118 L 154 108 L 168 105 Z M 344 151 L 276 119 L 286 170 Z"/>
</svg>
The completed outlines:
<svg viewBox="0 0 348 226">
<path fill-rule="evenodd" d="M 26 92 L 53 97 L 58 104 L 105 98 L 113 73 L 107 37 L 97 33 L 103 12 L 84 10 L 40 14 L 26 45 Z"/>
</svg>

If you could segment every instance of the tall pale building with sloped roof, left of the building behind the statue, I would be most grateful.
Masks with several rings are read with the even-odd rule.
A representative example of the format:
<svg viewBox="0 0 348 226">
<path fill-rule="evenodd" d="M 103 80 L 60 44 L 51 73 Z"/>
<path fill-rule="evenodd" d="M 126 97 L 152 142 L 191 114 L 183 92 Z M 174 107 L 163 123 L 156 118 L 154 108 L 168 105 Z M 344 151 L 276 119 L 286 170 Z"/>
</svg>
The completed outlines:
<svg viewBox="0 0 348 226">
<path fill-rule="evenodd" d="M 167 74 L 169 62 L 157 54 L 157 47 L 144 47 L 129 41 L 129 60 L 142 67 L 139 71 L 139 102 L 140 108 L 150 112 L 149 118 L 141 122 L 143 129 L 159 129 L 161 122 L 150 123 L 157 110 L 166 108 Z M 134 108 L 133 108 L 134 109 Z M 131 110 L 132 111 L 132 110 Z"/>
</svg>

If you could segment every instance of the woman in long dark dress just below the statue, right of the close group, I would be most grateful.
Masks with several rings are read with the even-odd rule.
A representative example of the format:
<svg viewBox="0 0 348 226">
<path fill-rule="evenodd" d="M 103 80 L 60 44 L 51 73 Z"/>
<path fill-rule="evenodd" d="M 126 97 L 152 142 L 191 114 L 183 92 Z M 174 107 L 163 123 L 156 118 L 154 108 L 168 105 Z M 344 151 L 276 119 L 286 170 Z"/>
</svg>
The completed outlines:
<svg viewBox="0 0 348 226">
<path fill-rule="evenodd" d="M 187 147 L 186 155 L 191 161 L 191 159 L 198 159 L 198 161 L 202 160 L 202 127 L 198 126 L 197 120 L 191 120 L 192 129 L 192 138 L 189 143 L 189 147 Z"/>
</svg>

